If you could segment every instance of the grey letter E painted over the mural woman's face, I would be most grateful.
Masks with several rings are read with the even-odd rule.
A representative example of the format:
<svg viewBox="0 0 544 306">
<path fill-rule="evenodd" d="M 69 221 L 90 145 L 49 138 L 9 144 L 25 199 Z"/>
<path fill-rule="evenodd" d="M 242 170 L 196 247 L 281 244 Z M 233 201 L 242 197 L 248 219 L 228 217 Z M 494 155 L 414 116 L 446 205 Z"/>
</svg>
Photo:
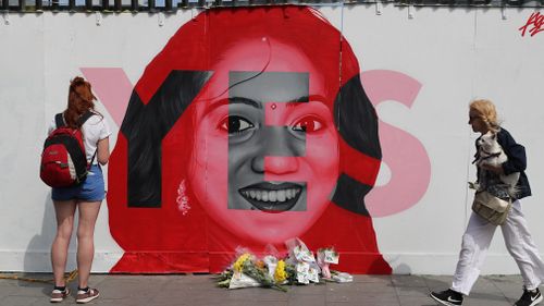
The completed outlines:
<svg viewBox="0 0 544 306">
<path fill-rule="evenodd" d="M 260 209 L 272 211 L 299 210 L 307 208 L 306 182 L 265 182 L 264 157 L 297 157 L 306 155 L 306 133 L 293 126 L 265 125 L 264 113 L 273 111 L 273 103 L 308 102 L 309 74 L 287 72 L 231 72 L 228 75 L 228 102 L 252 108 L 261 114 L 252 124 L 250 137 L 240 140 L 228 137 L 228 208 Z M 265 110 L 270 108 L 271 110 Z M 288 108 L 287 108 L 288 109 Z M 258 111 L 256 111 L 258 110 Z M 239 112 L 230 111 L 230 122 L 239 124 Z M 257 121 L 257 122 L 254 122 Z M 243 123 L 245 124 L 245 123 Z M 230 126 L 230 134 L 237 128 Z M 231 127 L 232 131 L 231 131 Z M 280 174 L 281 175 L 281 174 Z M 283 198 L 281 193 L 297 189 L 296 197 Z M 244 191 L 257 194 L 277 194 L 276 200 L 250 198 Z M 275 196 L 273 197 L 275 198 Z"/>
</svg>

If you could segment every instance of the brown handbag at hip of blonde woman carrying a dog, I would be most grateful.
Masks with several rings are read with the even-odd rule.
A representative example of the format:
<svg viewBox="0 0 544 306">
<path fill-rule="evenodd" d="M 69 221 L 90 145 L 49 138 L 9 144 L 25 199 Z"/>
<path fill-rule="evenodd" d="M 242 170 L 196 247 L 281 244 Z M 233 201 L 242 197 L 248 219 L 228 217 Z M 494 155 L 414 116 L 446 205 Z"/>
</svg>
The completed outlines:
<svg viewBox="0 0 544 306">
<path fill-rule="evenodd" d="M 504 200 L 485 191 L 474 194 L 472 211 L 494 225 L 504 224 L 510 208 L 510 199 Z"/>
</svg>

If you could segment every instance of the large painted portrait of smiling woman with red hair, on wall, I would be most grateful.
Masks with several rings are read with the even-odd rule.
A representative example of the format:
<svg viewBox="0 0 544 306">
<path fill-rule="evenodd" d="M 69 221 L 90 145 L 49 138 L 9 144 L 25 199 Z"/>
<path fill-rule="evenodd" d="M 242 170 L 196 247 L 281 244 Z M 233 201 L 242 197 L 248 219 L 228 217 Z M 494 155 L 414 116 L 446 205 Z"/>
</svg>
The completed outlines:
<svg viewBox="0 0 544 306">
<path fill-rule="evenodd" d="M 300 237 L 390 273 L 364 196 L 378 119 L 346 39 L 306 7 L 212 9 L 134 88 L 109 168 L 113 272 L 220 271 Z"/>
</svg>

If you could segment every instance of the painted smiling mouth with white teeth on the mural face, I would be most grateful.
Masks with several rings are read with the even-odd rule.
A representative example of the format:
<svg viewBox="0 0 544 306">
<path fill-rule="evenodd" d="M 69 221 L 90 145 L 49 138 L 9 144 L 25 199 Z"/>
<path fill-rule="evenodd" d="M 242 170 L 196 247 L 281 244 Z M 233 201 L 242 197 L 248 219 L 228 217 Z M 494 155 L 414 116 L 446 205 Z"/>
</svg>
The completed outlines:
<svg viewBox="0 0 544 306">
<path fill-rule="evenodd" d="M 302 185 L 295 183 L 273 184 L 262 182 L 238 189 L 238 193 L 255 208 L 265 212 L 293 209 L 302 193 Z"/>
</svg>

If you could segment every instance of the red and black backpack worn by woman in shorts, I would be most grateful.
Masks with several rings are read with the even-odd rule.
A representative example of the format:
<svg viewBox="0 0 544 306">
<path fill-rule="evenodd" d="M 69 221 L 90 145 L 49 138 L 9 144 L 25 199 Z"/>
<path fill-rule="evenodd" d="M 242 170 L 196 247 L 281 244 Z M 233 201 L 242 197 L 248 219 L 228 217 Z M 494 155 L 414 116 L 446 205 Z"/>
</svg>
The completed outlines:
<svg viewBox="0 0 544 306">
<path fill-rule="evenodd" d="M 77 125 L 82 126 L 91 115 L 90 111 L 84 113 L 77 120 Z M 39 176 L 51 187 L 81 184 L 87 178 L 96 151 L 90 163 L 87 163 L 82 130 L 66 126 L 62 113 L 54 117 L 54 122 L 57 128 L 44 144 Z"/>
</svg>

